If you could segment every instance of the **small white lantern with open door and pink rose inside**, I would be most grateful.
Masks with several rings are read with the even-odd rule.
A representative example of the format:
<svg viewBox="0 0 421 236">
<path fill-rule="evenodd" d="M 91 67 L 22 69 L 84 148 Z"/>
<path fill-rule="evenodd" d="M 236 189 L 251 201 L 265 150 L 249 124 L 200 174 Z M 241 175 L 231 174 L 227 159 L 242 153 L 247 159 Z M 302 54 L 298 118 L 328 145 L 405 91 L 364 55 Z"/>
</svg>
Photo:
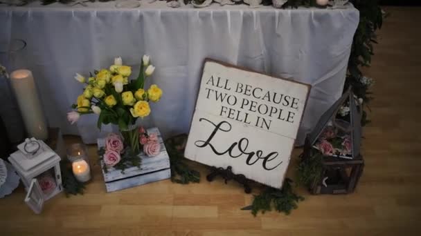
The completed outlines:
<svg viewBox="0 0 421 236">
<path fill-rule="evenodd" d="M 39 214 L 44 201 L 63 190 L 60 157 L 44 141 L 35 138 L 26 139 L 17 148 L 8 160 L 25 185 L 26 204 Z"/>
</svg>

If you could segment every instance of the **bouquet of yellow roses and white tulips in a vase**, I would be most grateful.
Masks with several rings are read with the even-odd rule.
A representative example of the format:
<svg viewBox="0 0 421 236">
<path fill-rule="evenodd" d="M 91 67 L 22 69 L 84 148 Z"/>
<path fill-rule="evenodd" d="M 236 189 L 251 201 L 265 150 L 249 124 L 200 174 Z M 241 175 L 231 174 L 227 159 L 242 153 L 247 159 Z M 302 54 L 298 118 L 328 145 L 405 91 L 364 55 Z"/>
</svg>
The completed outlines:
<svg viewBox="0 0 421 236">
<path fill-rule="evenodd" d="M 150 77 L 155 67 L 150 64 L 150 57 L 144 55 L 141 69 L 136 79 L 129 79 L 132 68 L 124 66 L 120 57 L 114 59 L 109 69 L 90 73 L 88 78 L 76 73 L 75 79 L 86 86 L 82 95 L 76 99 L 74 109 L 67 117 L 73 124 L 80 115 L 95 113 L 98 128 L 102 124 L 116 124 L 126 145 L 134 153 L 139 153 L 140 142 L 136 119 L 150 115 L 150 102 L 161 99 L 162 90 L 155 84 L 145 90 L 145 79 Z"/>
</svg>

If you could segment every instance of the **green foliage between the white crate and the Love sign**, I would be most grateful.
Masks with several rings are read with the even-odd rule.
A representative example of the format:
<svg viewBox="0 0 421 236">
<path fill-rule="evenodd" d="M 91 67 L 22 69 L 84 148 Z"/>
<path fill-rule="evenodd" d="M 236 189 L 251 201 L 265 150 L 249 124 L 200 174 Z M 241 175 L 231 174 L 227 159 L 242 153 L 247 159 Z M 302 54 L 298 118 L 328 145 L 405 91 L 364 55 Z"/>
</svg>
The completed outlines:
<svg viewBox="0 0 421 236">
<path fill-rule="evenodd" d="M 171 181 L 177 184 L 199 183 L 200 173 L 186 164 L 184 149 L 186 148 L 187 135 L 177 135 L 165 140 L 165 148 L 170 156 Z"/>
</svg>

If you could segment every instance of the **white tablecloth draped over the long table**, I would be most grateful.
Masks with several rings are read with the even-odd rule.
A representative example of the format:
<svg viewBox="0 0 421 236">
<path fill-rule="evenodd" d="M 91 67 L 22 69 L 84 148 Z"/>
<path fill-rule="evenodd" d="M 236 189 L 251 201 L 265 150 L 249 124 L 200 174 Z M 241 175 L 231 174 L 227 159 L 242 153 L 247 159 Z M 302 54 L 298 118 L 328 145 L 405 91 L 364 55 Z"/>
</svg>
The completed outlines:
<svg viewBox="0 0 421 236">
<path fill-rule="evenodd" d="M 158 126 L 165 137 L 188 132 L 206 57 L 310 83 L 298 143 L 341 95 L 359 22 L 352 6 L 279 10 L 213 4 L 197 10 L 141 3 L 136 9 L 116 9 L 114 2 L 0 8 L 0 41 L 27 41 L 26 67 L 33 70 L 49 126 L 96 141 L 95 115 L 73 126 L 66 121 L 82 92 L 73 76 L 107 68 L 118 56 L 137 75 L 141 56 L 151 55 L 157 70 L 148 82 L 159 84 L 164 95 L 142 122 Z"/>
</svg>

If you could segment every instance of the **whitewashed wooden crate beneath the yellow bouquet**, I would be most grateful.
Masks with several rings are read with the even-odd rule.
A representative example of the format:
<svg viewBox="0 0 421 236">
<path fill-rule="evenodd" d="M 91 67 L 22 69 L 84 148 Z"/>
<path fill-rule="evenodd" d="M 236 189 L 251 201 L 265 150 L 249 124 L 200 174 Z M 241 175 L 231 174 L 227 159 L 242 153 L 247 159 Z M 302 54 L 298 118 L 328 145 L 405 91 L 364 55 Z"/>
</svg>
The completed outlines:
<svg viewBox="0 0 421 236">
<path fill-rule="evenodd" d="M 126 168 L 124 173 L 115 168 L 108 168 L 107 173 L 102 170 L 107 193 L 117 190 L 132 188 L 154 181 L 169 179 L 171 177 L 170 157 L 168 156 L 163 139 L 158 128 L 148 128 L 147 133 L 156 132 L 158 141 L 161 144 L 161 153 L 155 157 L 147 157 L 143 152 L 138 155 L 141 159 L 141 168 L 137 166 Z M 98 139 L 98 150 L 105 147 L 105 138 Z M 103 163 L 101 163 L 102 165 Z"/>
</svg>

